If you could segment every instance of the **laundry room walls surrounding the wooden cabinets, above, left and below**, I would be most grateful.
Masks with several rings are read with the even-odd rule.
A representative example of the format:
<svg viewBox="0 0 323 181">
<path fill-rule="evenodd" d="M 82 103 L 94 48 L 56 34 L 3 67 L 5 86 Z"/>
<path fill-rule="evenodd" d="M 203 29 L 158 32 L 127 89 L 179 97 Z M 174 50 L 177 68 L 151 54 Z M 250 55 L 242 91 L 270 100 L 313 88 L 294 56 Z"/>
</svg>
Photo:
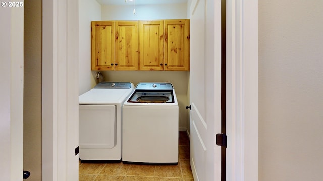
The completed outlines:
<svg viewBox="0 0 323 181">
<path fill-rule="evenodd" d="M 95 0 L 79 1 L 79 95 L 98 83 L 97 72 L 101 72 L 104 81 L 131 82 L 135 86 L 139 82 L 169 82 L 173 84 L 178 100 L 179 131 L 189 131 L 189 111 L 185 108 L 189 105 L 189 71 L 91 70 L 91 21 L 189 19 L 188 1 L 149 5 L 141 5 L 140 1 L 120 2 L 122 5 L 104 5 L 104 1 Z"/>
</svg>

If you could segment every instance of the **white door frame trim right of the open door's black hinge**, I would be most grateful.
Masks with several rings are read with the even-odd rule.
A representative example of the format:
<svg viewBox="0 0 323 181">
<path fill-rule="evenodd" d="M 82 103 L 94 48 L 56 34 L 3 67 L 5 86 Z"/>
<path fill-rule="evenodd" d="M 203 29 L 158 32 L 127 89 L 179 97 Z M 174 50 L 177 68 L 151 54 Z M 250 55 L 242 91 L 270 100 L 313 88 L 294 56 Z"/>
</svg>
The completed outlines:
<svg viewBox="0 0 323 181">
<path fill-rule="evenodd" d="M 227 180 L 258 180 L 258 1 L 227 0 Z"/>
</svg>

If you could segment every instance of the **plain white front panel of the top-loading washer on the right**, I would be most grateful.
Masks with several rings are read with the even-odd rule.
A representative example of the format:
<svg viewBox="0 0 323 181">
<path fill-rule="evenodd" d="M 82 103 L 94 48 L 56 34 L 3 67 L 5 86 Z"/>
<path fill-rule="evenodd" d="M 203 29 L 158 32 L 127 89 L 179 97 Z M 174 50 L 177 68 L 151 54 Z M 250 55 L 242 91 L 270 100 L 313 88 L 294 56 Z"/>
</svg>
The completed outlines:
<svg viewBox="0 0 323 181">
<path fill-rule="evenodd" d="M 178 162 L 178 106 L 124 106 L 122 160 Z"/>
</svg>

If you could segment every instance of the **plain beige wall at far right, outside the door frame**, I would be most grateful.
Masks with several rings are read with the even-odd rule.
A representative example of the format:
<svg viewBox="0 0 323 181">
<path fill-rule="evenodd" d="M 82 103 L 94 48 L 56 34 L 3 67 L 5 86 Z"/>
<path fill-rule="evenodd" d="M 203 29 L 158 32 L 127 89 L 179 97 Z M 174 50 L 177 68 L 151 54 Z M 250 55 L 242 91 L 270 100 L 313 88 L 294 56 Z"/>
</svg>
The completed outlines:
<svg viewBox="0 0 323 181">
<path fill-rule="evenodd" d="M 323 1 L 259 1 L 259 180 L 322 180 Z"/>
</svg>

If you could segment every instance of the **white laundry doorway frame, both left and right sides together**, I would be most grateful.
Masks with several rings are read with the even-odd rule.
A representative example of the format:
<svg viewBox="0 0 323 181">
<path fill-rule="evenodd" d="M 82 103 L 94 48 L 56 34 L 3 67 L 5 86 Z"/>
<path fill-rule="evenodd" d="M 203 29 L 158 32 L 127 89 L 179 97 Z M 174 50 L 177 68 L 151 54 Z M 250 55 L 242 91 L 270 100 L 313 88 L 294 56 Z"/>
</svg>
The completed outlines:
<svg viewBox="0 0 323 181">
<path fill-rule="evenodd" d="M 256 0 L 227 1 L 228 180 L 258 179 L 257 10 Z M 44 180 L 78 180 L 77 42 L 78 1 L 43 2 Z"/>
</svg>

